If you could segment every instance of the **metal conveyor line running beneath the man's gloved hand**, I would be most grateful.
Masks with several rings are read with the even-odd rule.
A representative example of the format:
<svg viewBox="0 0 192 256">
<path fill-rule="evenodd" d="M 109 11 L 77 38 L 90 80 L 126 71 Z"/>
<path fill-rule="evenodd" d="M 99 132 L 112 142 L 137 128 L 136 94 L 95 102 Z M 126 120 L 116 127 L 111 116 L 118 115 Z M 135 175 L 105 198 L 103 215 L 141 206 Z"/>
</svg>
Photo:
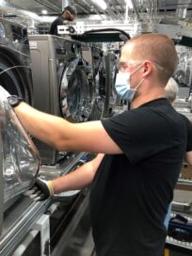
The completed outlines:
<svg viewBox="0 0 192 256">
<path fill-rule="evenodd" d="M 88 154 L 81 152 L 55 167 L 42 166 L 40 177 L 49 180 L 65 175 L 87 158 Z M 21 196 L 4 214 L 0 255 L 61 255 L 88 207 L 87 194 L 87 191 L 75 191 L 72 196 L 61 193 L 39 202 Z"/>
</svg>

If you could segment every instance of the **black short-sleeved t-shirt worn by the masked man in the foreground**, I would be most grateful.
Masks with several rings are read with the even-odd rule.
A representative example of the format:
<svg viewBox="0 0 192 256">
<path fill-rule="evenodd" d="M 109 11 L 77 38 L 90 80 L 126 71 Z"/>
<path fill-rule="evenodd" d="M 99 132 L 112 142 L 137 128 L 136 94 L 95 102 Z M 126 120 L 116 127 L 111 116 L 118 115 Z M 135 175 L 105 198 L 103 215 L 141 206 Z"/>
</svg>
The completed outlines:
<svg viewBox="0 0 192 256">
<path fill-rule="evenodd" d="M 162 256 L 186 147 L 184 119 L 162 98 L 102 123 L 123 154 L 105 155 L 91 184 L 97 256 Z"/>
</svg>

